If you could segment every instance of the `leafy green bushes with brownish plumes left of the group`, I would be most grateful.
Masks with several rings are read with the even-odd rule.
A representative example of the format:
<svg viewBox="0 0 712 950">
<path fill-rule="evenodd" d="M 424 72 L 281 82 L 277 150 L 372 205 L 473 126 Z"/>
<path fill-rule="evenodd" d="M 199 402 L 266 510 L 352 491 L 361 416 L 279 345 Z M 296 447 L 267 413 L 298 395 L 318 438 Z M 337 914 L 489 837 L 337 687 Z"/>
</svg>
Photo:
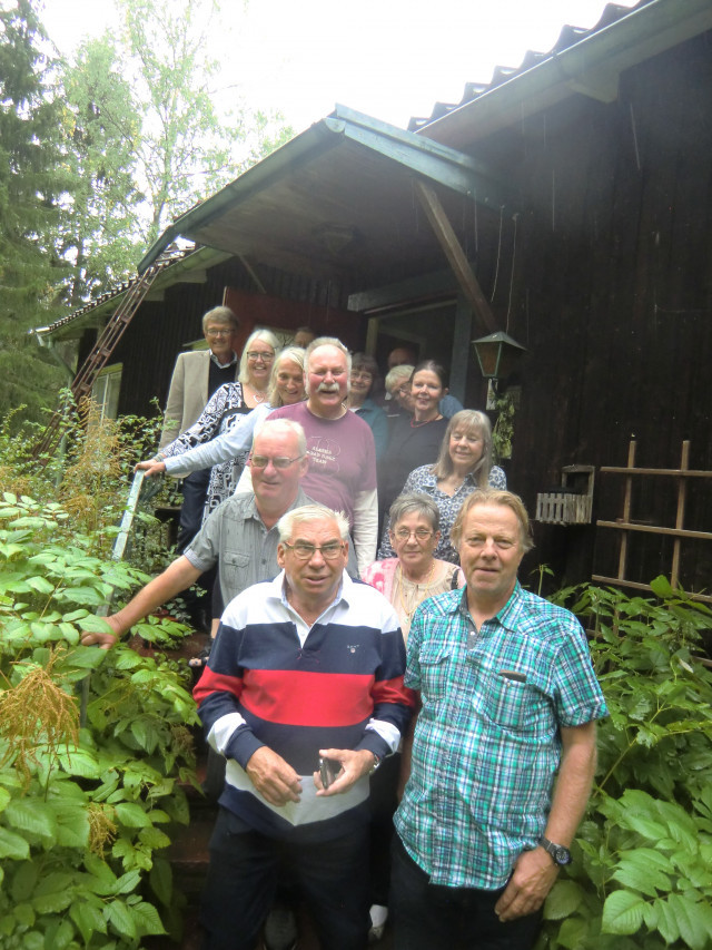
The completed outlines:
<svg viewBox="0 0 712 950">
<path fill-rule="evenodd" d="M 22 469 L 10 428 L 0 427 L 6 484 Z M 93 533 L 96 511 L 70 515 L 37 467 L 16 482 L 31 480 L 40 500 L 0 498 L 0 948 L 129 950 L 176 919 L 165 849 L 188 820 L 184 784 L 196 783 L 185 674 L 160 655 L 80 643 L 107 629 L 109 598 L 148 579 L 102 554 L 113 529 L 101 520 L 126 496 L 129 433 L 148 428 L 125 420 L 110 444 L 101 425 L 70 431 L 75 493 L 60 486 L 59 497 L 88 487 L 102 497 Z M 182 628 L 141 633 L 166 644 Z"/>
</svg>

